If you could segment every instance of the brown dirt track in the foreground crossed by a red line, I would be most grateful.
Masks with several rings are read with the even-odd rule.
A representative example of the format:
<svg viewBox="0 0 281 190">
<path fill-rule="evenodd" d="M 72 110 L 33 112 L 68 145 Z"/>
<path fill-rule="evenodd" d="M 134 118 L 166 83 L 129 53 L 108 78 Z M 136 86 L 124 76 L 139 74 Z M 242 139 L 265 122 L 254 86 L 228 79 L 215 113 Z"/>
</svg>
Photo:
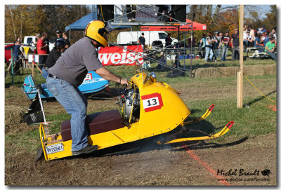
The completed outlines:
<svg viewBox="0 0 281 190">
<path fill-rule="evenodd" d="M 6 89 L 6 92 L 19 90 Z M 6 102 L 6 107 L 28 107 L 24 95 Z M 89 104 L 103 105 L 103 101 Z M 114 101 L 112 101 L 114 102 Z M 63 111 L 58 102 L 48 102 L 55 111 Z M 110 109 L 104 108 L 104 109 Z M 46 108 L 46 112 L 51 111 Z M 31 130 L 27 125 L 6 129 L 6 133 Z M 138 144 L 133 144 L 134 148 Z M 44 159 L 34 162 L 36 152 L 24 152 L 15 147 L 13 154 L 5 155 L 6 185 L 86 185 L 86 186 L 224 186 L 275 185 L 276 135 L 256 138 L 230 137 L 206 143 L 193 142 L 160 146 L 153 142 L 141 143 L 139 149 L 127 154 L 104 156 L 112 152 L 97 151 L 90 156 Z M 6 143 L 6 149 L 13 144 Z M 117 150 L 115 150 L 117 151 Z M 262 171 L 270 170 L 268 176 Z M 235 172 L 236 170 L 236 172 Z M 242 171 L 240 176 L 240 171 Z M 224 175 L 223 175 L 224 174 Z M 247 175 L 248 174 L 248 175 Z M 251 174 L 251 175 L 250 175 Z M 232 180 L 230 182 L 229 180 Z M 220 180 L 220 181 L 219 181 Z M 226 181 L 228 180 L 228 181 Z M 242 181 L 240 181 L 242 180 Z"/>
</svg>

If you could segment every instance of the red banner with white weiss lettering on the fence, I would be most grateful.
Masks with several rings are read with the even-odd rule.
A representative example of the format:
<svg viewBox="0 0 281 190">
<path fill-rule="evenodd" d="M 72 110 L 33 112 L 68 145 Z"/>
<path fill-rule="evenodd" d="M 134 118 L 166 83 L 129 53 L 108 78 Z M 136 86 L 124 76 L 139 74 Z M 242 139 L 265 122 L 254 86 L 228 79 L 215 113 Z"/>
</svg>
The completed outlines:
<svg viewBox="0 0 281 190">
<path fill-rule="evenodd" d="M 98 51 L 98 59 L 107 65 L 135 65 L 136 60 L 143 64 L 143 48 L 142 46 L 108 46 L 100 48 Z"/>
</svg>

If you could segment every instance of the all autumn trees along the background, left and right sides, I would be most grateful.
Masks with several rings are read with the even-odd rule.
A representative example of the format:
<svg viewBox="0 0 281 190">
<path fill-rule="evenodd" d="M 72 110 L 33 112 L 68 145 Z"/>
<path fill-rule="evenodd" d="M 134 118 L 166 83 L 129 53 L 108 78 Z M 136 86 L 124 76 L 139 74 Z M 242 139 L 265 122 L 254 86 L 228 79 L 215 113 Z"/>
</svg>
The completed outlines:
<svg viewBox="0 0 281 190">
<path fill-rule="evenodd" d="M 192 6 L 192 16 L 191 16 Z M 195 22 L 207 25 L 207 31 L 196 31 L 194 37 L 196 42 L 201 39 L 202 34 L 215 31 L 226 32 L 239 26 L 238 6 L 226 5 L 191 5 L 187 18 Z M 16 36 L 34 35 L 36 33 L 47 32 L 49 39 L 55 38 L 55 31 L 65 31 L 65 27 L 72 22 L 79 20 L 84 15 L 91 13 L 91 8 L 86 5 L 6 5 L 5 6 L 5 41 L 13 42 Z M 257 29 L 262 25 L 271 30 L 276 26 L 277 9 L 275 5 L 270 6 L 270 11 L 266 13 L 266 18 L 261 18 L 259 6 L 244 6 L 244 23 Z M 140 27 L 133 27 L 139 30 Z M 177 38 L 178 32 L 169 32 L 171 36 Z M 110 35 L 110 41 L 116 41 L 118 31 Z M 190 34 L 190 32 L 189 32 Z M 71 42 L 74 43 L 84 32 L 72 32 Z M 188 37 L 188 35 L 185 35 Z M 180 36 L 180 40 L 184 35 Z M 188 41 L 185 41 L 188 43 Z"/>
</svg>

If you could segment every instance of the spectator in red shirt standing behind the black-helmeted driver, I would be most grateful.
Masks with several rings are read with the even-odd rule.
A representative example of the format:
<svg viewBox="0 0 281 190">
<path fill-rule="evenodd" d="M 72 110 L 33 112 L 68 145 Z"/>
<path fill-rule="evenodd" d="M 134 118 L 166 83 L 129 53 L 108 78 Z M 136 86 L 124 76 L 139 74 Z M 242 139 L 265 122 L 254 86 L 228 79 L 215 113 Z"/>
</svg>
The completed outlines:
<svg viewBox="0 0 281 190">
<path fill-rule="evenodd" d="M 47 54 L 48 54 L 48 44 L 45 43 L 46 32 L 41 34 L 41 38 L 37 41 L 37 52 L 39 55 L 39 68 L 42 69 L 45 65 Z"/>
</svg>

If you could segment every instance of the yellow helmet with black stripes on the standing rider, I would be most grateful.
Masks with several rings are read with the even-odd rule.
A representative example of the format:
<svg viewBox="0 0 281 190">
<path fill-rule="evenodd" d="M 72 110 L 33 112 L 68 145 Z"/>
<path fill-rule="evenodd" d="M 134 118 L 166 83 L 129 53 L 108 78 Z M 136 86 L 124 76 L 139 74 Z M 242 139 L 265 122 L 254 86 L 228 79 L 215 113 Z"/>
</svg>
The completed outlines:
<svg viewBox="0 0 281 190">
<path fill-rule="evenodd" d="M 108 44 L 106 34 L 112 30 L 113 27 L 109 22 L 92 20 L 85 29 L 85 35 L 100 43 L 100 45 L 104 48 Z"/>
</svg>

